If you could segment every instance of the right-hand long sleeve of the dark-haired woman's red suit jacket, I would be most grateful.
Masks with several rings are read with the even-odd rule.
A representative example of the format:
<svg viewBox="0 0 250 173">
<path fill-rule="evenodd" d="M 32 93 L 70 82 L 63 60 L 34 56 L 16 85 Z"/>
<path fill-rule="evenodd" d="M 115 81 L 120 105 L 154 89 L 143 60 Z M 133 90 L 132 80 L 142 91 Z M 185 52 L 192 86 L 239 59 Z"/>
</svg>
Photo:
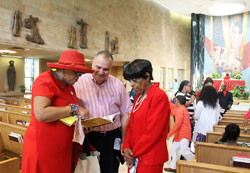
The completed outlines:
<svg viewBox="0 0 250 173">
<path fill-rule="evenodd" d="M 168 97 L 155 93 L 147 113 L 147 127 L 144 134 L 133 146 L 134 156 L 140 157 L 162 138 L 162 133 L 169 126 L 170 106 Z"/>
</svg>

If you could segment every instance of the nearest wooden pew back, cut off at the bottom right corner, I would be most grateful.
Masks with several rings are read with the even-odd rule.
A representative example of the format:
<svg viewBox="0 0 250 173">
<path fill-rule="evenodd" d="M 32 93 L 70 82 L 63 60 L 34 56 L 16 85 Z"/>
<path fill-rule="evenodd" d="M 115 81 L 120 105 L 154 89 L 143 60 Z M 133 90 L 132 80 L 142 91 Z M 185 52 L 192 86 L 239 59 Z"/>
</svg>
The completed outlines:
<svg viewBox="0 0 250 173">
<path fill-rule="evenodd" d="M 177 173 L 247 173 L 249 169 L 178 160 Z"/>
</svg>

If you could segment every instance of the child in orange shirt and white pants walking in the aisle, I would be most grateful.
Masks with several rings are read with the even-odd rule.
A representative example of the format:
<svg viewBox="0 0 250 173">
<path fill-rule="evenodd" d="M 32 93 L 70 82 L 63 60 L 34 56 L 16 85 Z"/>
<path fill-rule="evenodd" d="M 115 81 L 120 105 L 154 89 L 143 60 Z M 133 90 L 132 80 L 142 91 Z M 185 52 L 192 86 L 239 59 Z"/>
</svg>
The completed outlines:
<svg viewBox="0 0 250 173">
<path fill-rule="evenodd" d="M 168 138 L 174 135 L 174 143 L 172 145 L 170 167 L 164 168 L 165 171 L 176 171 L 176 162 L 180 154 L 188 161 L 192 161 L 194 158 L 194 154 L 189 148 L 189 141 L 191 141 L 191 124 L 185 103 L 186 98 L 184 96 L 177 96 L 176 107 L 174 108 L 174 105 L 171 105 L 171 113 L 175 116 L 175 123 L 168 134 Z"/>
</svg>

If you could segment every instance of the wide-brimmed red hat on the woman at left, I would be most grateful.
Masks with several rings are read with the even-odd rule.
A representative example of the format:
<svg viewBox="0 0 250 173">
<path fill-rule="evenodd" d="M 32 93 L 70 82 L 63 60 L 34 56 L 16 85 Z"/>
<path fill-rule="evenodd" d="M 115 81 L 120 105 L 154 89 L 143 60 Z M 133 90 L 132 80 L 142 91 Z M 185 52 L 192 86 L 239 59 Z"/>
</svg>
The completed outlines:
<svg viewBox="0 0 250 173">
<path fill-rule="evenodd" d="M 47 63 L 47 66 L 51 68 L 60 68 L 83 73 L 93 72 L 93 70 L 86 67 L 84 55 L 72 49 L 63 51 L 57 63 Z"/>
</svg>

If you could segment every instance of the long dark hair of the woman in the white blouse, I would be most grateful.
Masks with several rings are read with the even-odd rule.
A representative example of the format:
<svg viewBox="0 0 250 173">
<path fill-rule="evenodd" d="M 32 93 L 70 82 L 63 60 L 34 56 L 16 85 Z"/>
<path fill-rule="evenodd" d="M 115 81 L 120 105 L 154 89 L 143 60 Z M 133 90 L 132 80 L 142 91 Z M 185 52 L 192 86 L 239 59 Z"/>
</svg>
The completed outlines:
<svg viewBox="0 0 250 173">
<path fill-rule="evenodd" d="M 212 86 L 205 86 L 201 90 L 201 94 L 199 100 L 203 101 L 204 106 L 211 106 L 213 108 L 216 107 L 217 100 L 218 100 L 218 93 L 216 89 Z"/>
</svg>

